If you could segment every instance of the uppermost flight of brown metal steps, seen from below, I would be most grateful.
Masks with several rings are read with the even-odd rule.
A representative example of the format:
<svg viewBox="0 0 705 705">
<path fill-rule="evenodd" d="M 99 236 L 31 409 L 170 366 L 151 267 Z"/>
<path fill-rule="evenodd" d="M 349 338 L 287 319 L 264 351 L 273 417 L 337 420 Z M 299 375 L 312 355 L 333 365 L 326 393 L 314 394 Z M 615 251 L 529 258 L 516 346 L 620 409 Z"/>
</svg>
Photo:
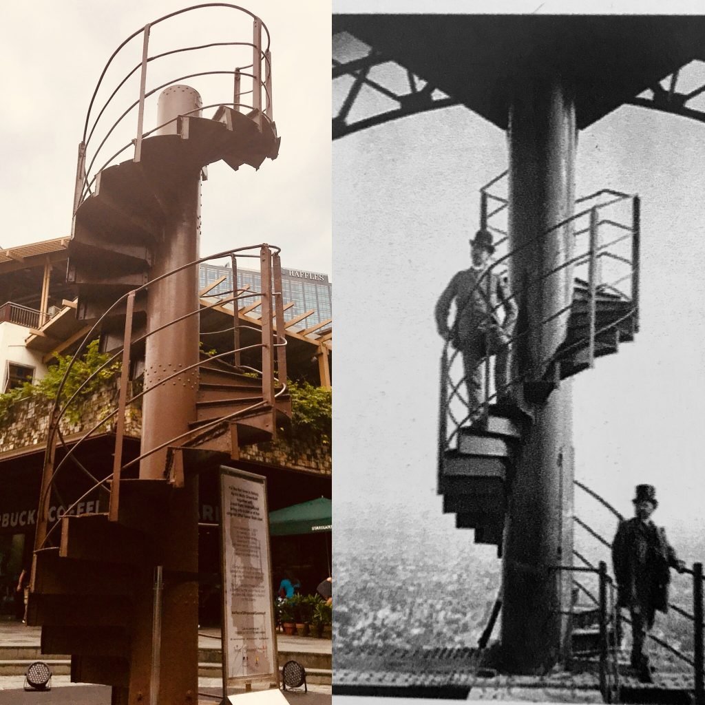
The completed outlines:
<svg viewBox="0 0 705 705">
<path fill-rule="evenodd" d="M 183 117 L 178 134 L 142 140 L 140 163 L 109 166 L 97 177 L 96 190 L 75 213 L 68 246 L 68 279 L 79 289 L 79 306 L 90 296 L 85 287 L 111 287 L 114 299 L 147 283 L 152 243 L 162 237 L 164 204 L 183 174 L 224 159 L 233 168 L 259 168 L 276 159 L 275 128 L 255 115 L 221 108 L 214 119 Z M 94 266 L 99 260 L 101 274 Z"/>
</svg>

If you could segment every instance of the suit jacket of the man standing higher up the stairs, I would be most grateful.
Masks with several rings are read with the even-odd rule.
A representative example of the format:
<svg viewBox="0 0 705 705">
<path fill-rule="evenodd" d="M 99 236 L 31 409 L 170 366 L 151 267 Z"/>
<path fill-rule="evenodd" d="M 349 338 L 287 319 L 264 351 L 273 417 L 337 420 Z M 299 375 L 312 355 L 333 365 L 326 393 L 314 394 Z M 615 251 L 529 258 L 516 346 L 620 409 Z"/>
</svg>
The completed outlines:
<svg viewBox="0 0 705 705">
<path fill-rule="evenodd" d="M 444 338 L 448 338 L 448 312 L 455 299 L 457 314 L 453 324 L 453 343 L 460 347 L 488 324 L 501 326 L 511 334 L 517 319 L 517 305 L 510 297 L 505 276 L 489 271 L 485 278 L 475 286 L 483 272 L 476 269 L 463 269 L 450 280 L 436 304 L 436 326 Z M 504 320 L 500 321 L 498 312 L 504 309 Z"/>
</svg>

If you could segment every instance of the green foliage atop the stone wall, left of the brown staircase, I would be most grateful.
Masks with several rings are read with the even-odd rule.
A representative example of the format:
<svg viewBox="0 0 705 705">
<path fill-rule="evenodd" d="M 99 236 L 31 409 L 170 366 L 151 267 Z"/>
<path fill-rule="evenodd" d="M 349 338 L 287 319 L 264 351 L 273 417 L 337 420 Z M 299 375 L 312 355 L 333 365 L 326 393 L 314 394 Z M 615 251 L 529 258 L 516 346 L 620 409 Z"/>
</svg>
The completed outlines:
<svg viewBox="0 0 705 705">
<path fill-rule="evenodd" d="M 68 376 L 61 389 L 61 401 L 64 403 L 70 399 L 91 374 L 110 359 L 111 355 L 109 353 L 99 352 L 98 345 L 99 341 L 97 339 L 88 343 L 83 356 L 73 363 L 70 370 L 68 370 L 68 367 L 72 356 L 56 355 L 56 364 L 49 367 L 47 374 L 37 384 L 25 382 L 21 387 L 11 389 L 6 394 L 0 394 L 0 419 L 4 418 L 11 407 L 19 401 L 31 398 L 56 400 L 61 380 L 66 376 L 67 370 Z M 81 389 L 75 400 L 73 400 L 71 407 L 66 411 L 66 417 L 69 421 L 78 422 L 81 417 L 82 401 L 89 397 L 104 381 L 111 379 L 119 371 L 120 367 L 119 361 L 107 365 Z"/>
</svg>

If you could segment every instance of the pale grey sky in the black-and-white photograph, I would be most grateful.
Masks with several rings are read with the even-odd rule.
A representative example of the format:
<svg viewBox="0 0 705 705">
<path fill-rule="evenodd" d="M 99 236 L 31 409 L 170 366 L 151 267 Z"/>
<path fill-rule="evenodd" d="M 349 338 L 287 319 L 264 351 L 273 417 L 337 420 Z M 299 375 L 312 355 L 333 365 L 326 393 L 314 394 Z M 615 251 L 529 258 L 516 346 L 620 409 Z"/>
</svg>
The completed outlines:
<svg viewBox="0 0 705 705">
<path fill-rule="evenodd" d="M 705 70 L 690 72 L 697 79 L 705 82 Z M 344 94 L 334 85 L 334 106 Z M 360 106 L 366 100 L 372 109 L 371 92 L 360 94 Z M 630 106 L 580 133 L 577 195 L 614 188 L 642 197 L 642 307 L 635 343 L 573 383 L 576 477 L 623 513 L 632 511 L 635 484 L 655 484 L 657 522 L 699 534 L 704 136 L 701 123 Z M 364 306 L 336 320 L 336 499 L 371 494 L 412 513 L 435 508 L 441 521 L 433 308 L 468 266 L 478 190 L 507 157 L 505 134 L 462 106 L 334 143 L 336 298 L 361 297 L 363 276 L 367 285 Z M 443 521 L 452 530 L 452 517 Z"/>
</svg>

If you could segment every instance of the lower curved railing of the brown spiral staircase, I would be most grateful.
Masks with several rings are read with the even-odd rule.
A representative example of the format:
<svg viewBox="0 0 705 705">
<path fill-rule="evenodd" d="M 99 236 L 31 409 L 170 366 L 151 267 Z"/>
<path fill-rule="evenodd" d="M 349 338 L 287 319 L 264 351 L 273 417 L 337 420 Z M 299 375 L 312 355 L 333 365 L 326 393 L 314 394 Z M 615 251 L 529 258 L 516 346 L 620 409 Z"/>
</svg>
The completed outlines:
<svg viewBox="0 0 705 705">
<path fill-rule="evenodd" d="M 250 406 L 235 410 L 227 415 L 223 415 L 222 417 L 217 417 L 211 422 L 199 424 L 197 427 L 190 429 L 187 433 L 181 434 L 180 436 L 175 436 L 173 439 L 169 439 L 168 441 L 162 443 L 161 446 L 152 448 L 146 453 L 138 455 L 137 458 L 133 458 L 129 462 L 125 462 L 124 464 L 122 464 L 121 462 L 123 452 L 124 420 L 125 414 L 128 412 L 130 405 L 133 405 L 134 403 L 140 401 L 144 396 L 149 393 L 149 391 L 152 391 L 154 388 L 157 388 L 161 386 L 161 384 L 164 384 L 164 382 L 169 381 L 172 378 L 183 374 L 184 372 L 183 369 L 180 369 L 178 372 L 175 372 L 170 376 L 166 376 L 164 379 L 161 379 L 157 384 L 154 384 L 152 387 L 143 388 L 142 391 L 139 391 L 133 394 L 133 396 L 131 396 L 130 398 L 128 398 L 127 390 L 130 376 L 130 360 L 132 359 L 130 355 L 130 350 L 132 348 L 135 348 L 135 346 L 140 345 L 140 343 L 144 343 L 144 341 L 149 336 L 154 335 L 154 333 L 157 333 L 162 329 L 173 324 L 177 324 L 186 317 L 198 315 L 203 309 L 203 307 L 199 307 L 197 310 L 186 314 L 186 316 L 174 319 L 173 321 L 170 321 L 164 326 L 159 326 L 159 328 L 155 328 L 152 331 L 132 338 L 131 331 L 133 329 L 133 304 L 135 301 L 135 297 L 140 292 L 148 290 L 150 285 L 153 285 L 157 281 L 161 281 L 161 279 L 168 278 L 169 276 L 177 274 L 179 271 L 183 271 L 183 269 L 198 266 L 202 262 L 207 262 L 212 259 L 218 259 L 220 257 L 225 256 L 259 257 L 260 259 L 262 257 L 271 257 L 271 259 L 274 261 L 273 266 L 271 267 L 271 270 L 274 272 L 274 276 L 273 282 L 270 281 L 269 286 L 266 286 L 266 277 L 263 276 L 262 283 L 265 286 L 263 287 L 262 291 L 257 292 L 251 290 L 236 290 L 235 292 L 233 292 L 233 296 L 224 299 L 219 298 L 217 302 L 214 302 L 210 306 L 223 306 L 228 302 L 233 302 L 233 316 L 236 317 L 238 302 L 240 300 L 247 298 L 262 298 L 263 300 L 268 299 L 269 301 L 274 303 L 274 306 L 266 307 L 265 305 L 263 305 L 263 314 L 265 308 L 271 308 L 271 311 L 274 312 L 274 320 L 276 321 L 276 331 L 283 331 L 284 321 L 281 287 L 281 262 L 279 262 L 278 248 L 274 247 L 274 253 L 272 253 L 269 245 L 262 245 L 259 246 L 259 250 L 261 251 L 260 254 L 247 254 L 248 250 L 252 250 L 255 247 L 257 246 L 252 245 L 250 247 L 239 247 L 236 250 L 226 250 L 224 252 L 216 253 L 216 255 L 208 255 L 207 257 L 202 257 L 196 262 L 191 262 L 185 266 L 182 266 L 178 269 L 169 272 L 168 274 L 165 274 L 164 276 L 155 278 L 153 281 L 145 284 L 140 288 L 131 290 L 127 294 L 123 295 L 120 299 L 116 300 L 113 307 L 106 311 L 105 314 L 103 314 L 103 316 L 96 321 L 92 329 L 86 334 L 85 338 L 83 338 L 82 342 L 78 346 L 78 349 L 75 351 L 71 362 L 66 368 L 66 373 L 64 374 L 63 379 L 59 384 L 59 388 L 56 393 L 56 400 L 54 401 L 54 407 L 51 411 L 51 421 L 49 424 L 47 449 L 45 451 L 44 474 L 42 477 L 42 494 L 40 496 L 39 501 L 39 513 L 37 514 L 37 534 L 35 540 L 35 551 L 39 551 L 42 548 L 47 548 L 49 545 L 56 545 L 56 541 L 54 541 L 54 544 L 50 544 L 49 539 L 52 537 L 52 534 L 56 531 L 57 527 L 61 526 L 61 517 L 57 517 L 56 522 L 51 528 L 48 527 L 49 507 L 51 505 L 51 492 L 54 491 L 58 493 L 57 477 L 59 477 L 59 472 L 63 470 L 64 467 L 69 467 L 69 460 L 71 460 L 76 465 L 77 469 L 80 470 L 80 472 L 82 472 L 83 474 L 87 474 L 87 476 L 92 479 L 94 484 L 90 486 L 90 489 L 78 496 L 78 498 L 75 498 L 72 501 L 68 501 L 68 503 L 64 495 L 58 494 L 57 498 L 59 500 L 59 503 L 64 508 L 63 514 L 61 516 L 71 515 L 71 512 L 76 508 L 79 503 L 86 501 L 87 497 L 91 496 L 95 491 L 102 489 L 106 492 L 106 494 L 108 494 L 109 517 L 111 518 L 111 520 L 116 520 L 118 517 L 120 486 L 119 481 L 121 478 L 121 474 L 123 473 L 123 471 L 128 470 L 129 468 L 137 465 L 143 458 L 146 458 L 148 455 L 156 453 L 157 451 L 163 448 L 197 448 L 200 440 L 203 439 L 204 436 L 212 437 L 214 434 L 217 435 L 219 433 L 223 433 L 224 429 L 226 428 L 226 426 L 228 426 L 228 424 L 234 423 L 240 417 L 246 417 L 248 414 L 252 413 L 254 410 L 257 410 L 257 408 L 259 407 L 266 407 L 268 405 L 273 409 L 276 407 L 278 410 L 283 412 L 283 415 L 285 416 L 286 413 L 289 412 L 290 407 L 288 405 L 288 395 L 286 393 L 286 337 L 277 332 L 276 335 L 274 335 L 274 342 L 271 344 L 271 347 L 277 350 L 275 374 L 275 358 L 273 355 L 271 355 L 269 351 L 269 344 L 266 340 L 267 327 L 262 326 L 262 328 L 253 329 L 260 334 L 260 343 L 257 343 L 256 345 L 235 347 L 232 350 L 226 350 L 225 352 L 219 353 L 217 355 L 210 355 L 204 357 L 204 359 L 200 360 L 197 364 L 192 366 L 195 369 L 201 369 L 202 367 L 207 367 L 209 364 L 217 360 L 220 362 L 220 364 L 223 365 L 223 367 L 230 369 L 231 372 L 233 372 L 234 374 L 245 373 L 248 376 L 256 375 L 257 378 L 262 382 L 262 389 L 267 390 L 266 396 L 263 395 L 261 401 Z M 274 288 L 272 288 L 272 283 L 274 284 Z M 76 360 L 78 360 L 82 352 L 85 350 L 87 343 L 94 339 L 95 334 L 101 329 L 101 326 L 104 321 L 106 321 L 106 319 L 109 319 L 113 315 L 113 310 L 118 309 L 124 302 L 127 302 L 127 312 L 125 315 L 125 345 L 116 350 L 116 352 L 114 352 L 111 357 L 106 360 L 106 362 L 100 365 L 97 369 L 94 370 L 94 372 L 92 372 L 92 374 L 90 374 L 90 376 L 88 376 L 84 381 L 82 381 L 80 386 L 76 388 L 70 398 L 62 402 L 61 392 L 63 390 L 64 385 L 66 384 L 66 380 L 68 379 L 68 376 L 71 373 L 71 369 L 75 364 Z M 272 314 L 270 313 L 269 315 L 271 316 Z M 245 326 L 235 325 L 233 326 L 233 331 L 239 332 L 244 327 Z M 246 327 L 249 328 L 250 326 Z M 127 341 L 129 341 L 129 343 Z M 228 362 L 224 360 L 224 358 L 233 358 L 234 360 L 235 355 L 238 355 L 238 353 L 243 353 L 246 350 L 254 350 L 256 348 L 262 349 L 262 369 L 256 369 L 253 367 L 244 366 L 242 364 L 228 364 Z M 105 413 L 99 420 L 99 422 L 94 424 L 94 426 L 88 431 L 85 431 L 85 433 L 82 434 L 82 436 L 80 436 L 78 440 L 72 441 L 70 444 L 67 443 L 63 437 L 63 434 L 61 433 L 61 419 L 66 415 L 69 410 L 71 410 L 71 408 L 76 403 L 80 403 L 81 391 L 87 386 L 89 386 L 92 381 L 97 379 L 102 371 L 111 367 L 111 365 L 118 361 L 121 361 L 118 403 L 111 410 L 105 410 Z M 269 369 L 267 369 L 268 366 Z M 253 393 L 255 392 L 255 387 L 253 387 L 252 391 Z M 109 422 L 111 422 L 114 418 L 116 418 L 117 420 L 115 429 L 115 460 L 113 472 L 107 474 L 106 477 L 99 479 L 98 477 L 96 477 L 96 474 L 90 472 L 90 470 L 88 470 L 85 465 L 82 464 L 82 462 L 78 461 L 76 456 L 78 455 L 78 451 L 83 446 L 83 444 L 92 437 L 94 437 L 94 434 L 101 431 L 101 429 L 104 429 L 104 427 L 106 427 L 106 425 L 109 424 Z M 56 466 L 54 466 L 54 459 L 56 458 L 57 448 L 61 448 L 64 451 L 64 455 L 63 458 L 61 458 L 61 460 L 56 463 Z M 175 473 L 176 470 L 173 467 L 172 463 L 171 474 L 168 476 L 168 479 L 171 484 L 175 484 L 176 486 L 178 486 L 179 482 L 183 482 L 183 477 L 179 478 L 176 476 Z M 64 475 L 65 473 L 61 474 L 62 479 Z M 111 487 L 107 487 L 107 484 L 111 484 Z"/>
</svg>

